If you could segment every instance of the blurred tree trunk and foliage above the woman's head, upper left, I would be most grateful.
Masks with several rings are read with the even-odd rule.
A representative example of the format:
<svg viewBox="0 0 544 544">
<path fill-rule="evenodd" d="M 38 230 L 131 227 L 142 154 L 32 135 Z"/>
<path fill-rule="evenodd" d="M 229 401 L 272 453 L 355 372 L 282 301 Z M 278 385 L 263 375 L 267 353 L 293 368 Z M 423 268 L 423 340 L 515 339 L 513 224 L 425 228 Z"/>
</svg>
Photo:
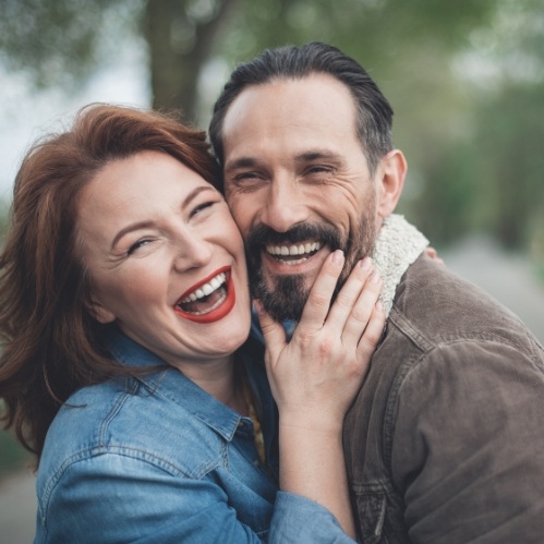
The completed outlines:
<svg viewBox="0 0 544 544">
<path fill-rule="evenodd" d="M 235 0 L 0 0 L 1 60 L 37 86 L 70 85 L 144 39 L 155 108 L 196 118 L 198 76 Z"/>
</svg>

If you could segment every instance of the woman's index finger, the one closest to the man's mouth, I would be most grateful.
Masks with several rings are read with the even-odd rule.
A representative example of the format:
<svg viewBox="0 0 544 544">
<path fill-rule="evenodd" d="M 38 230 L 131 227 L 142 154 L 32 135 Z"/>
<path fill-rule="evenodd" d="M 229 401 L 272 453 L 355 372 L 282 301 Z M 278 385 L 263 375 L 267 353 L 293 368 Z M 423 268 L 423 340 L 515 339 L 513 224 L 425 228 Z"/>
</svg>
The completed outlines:
<svg viewBox="0 0 544 544">
<path fill-rule="evenodd" d="M 330 299 L 342 271 L 343 261 L 343 252 L 337 250 L 323 263 L 302 311 L 295 334 L 300 335 L 301 331 L 314 331 L 323 328 L 323 323 L 330 307 Z"/>
</svg>

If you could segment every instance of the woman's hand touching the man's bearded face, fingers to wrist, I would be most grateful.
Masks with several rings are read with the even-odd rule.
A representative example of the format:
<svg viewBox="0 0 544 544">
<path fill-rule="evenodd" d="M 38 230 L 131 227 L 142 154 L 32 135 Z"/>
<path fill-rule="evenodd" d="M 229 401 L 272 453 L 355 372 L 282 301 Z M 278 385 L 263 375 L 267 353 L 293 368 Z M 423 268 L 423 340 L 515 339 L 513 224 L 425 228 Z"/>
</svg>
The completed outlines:
<svg viewBox="0 0 544 544">
<path fill-rule="evenodd" d="M 370 258 L 353 267 L 330 305 L 343 263 L 340 251 L 327 257 L 289 343 L 281 324 L 256 303 L 280 418 L 305 430 L 341 428 L 384 329 L 382 279 Z"/>
</svg>

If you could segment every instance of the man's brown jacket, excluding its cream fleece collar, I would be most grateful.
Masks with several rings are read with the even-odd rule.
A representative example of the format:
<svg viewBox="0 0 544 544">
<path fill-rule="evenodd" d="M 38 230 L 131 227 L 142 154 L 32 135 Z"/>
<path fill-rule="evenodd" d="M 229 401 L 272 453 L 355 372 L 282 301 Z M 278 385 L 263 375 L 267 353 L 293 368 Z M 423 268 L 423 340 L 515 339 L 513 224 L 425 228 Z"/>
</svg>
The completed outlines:
<svg viewBox="0 0 544 544">
<path fill-rule="evenodd" d="M 420 256 L 346 419 L 344 450 L 365 544 L 543 543 L 542 346 Z"/>
</svg>

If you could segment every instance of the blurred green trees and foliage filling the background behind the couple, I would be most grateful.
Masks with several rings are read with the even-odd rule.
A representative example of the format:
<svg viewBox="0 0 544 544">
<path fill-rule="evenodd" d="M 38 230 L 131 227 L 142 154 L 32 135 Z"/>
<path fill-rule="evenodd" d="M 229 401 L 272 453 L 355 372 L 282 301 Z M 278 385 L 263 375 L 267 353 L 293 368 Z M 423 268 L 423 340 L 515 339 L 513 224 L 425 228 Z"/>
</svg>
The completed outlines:
<svg viewBox="0 0 544 544">
<path fill-rule="evenodd" d="M 0 0 L 0 67 L 36 96 L 71 96 L 130 51 L 148 105 L 202 128 L 237 62 L 310 40 L 390 99 L 410 165 L 399 210 L 433 245 L 485 233 L 544 281 L 542 0 Z M 21 462 L 4 435 L 0 471 Z"/>
</svg>

